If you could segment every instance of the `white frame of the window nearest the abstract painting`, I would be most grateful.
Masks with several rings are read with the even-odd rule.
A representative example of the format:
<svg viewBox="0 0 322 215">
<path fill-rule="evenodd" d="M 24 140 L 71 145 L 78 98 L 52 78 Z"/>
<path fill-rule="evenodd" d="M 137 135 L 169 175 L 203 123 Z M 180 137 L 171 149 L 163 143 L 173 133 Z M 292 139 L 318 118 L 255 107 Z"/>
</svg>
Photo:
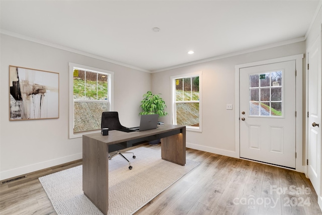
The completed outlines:
<svg viewBox="0 0 322 215">
<path fill-rule="evenodd" d="M 72 63 L 69 62 L 69 139 L 72 138 L 78 138 L 82 137 L 83 134 L 88 134 L 88 133 L 95 133 L 98 132 L 97 130 L 94 131 L 85 131 L 85 132 L 79 132 L 79 133 L 74 133 L 74 98 L 73 98 L 73 71 L 74 69 L 80 69 L 80 70 L 86 70 L 86 71 L 92 71 L 95 73 L 100 73 L 100 74 L 106 74 L 108 76 L 107 78 L 107 86 L 108 86 L 108 101 L 107 101 L 107 106 L 108 110 L 107 111 L 112 111 L 114 109 L 114 93 L 113 93 L 113 83 L 114 83 L 114 72 L 101 69 L 101 68 L 95 68 L 92 66 L 87 66 L 87 65 L 82 65 L 82 64 L 77 64 L 77 63 Z M 83 100 L 83 101 L 89 101 L 89 100 Z M 93 100 L 91 102 L 100 102 L 97 100 Z"/>
</svg>

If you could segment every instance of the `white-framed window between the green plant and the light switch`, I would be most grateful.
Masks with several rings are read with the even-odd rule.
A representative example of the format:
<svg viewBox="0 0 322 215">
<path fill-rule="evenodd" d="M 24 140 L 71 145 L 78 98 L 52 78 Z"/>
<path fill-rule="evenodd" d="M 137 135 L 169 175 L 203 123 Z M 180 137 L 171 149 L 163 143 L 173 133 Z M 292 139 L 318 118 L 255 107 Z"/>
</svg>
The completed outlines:
<svg viewBox="0 0 322 215">
<path fill-rule="evenodd" d="M 201 130 L 201 71 L 171 77 L 172 122 L 187 130 Z"/>
</svg>

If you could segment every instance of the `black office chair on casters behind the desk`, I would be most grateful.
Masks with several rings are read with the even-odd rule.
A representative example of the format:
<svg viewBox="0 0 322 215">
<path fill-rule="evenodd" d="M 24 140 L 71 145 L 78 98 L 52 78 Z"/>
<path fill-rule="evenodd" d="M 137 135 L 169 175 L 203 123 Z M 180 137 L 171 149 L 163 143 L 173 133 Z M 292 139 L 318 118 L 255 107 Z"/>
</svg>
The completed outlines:
<svg viewBox="0 0 322 215">
<path fill-rule="evenodd" d="M 126 130 L 127 128 L 121 125 L 119 120 L 119 113 L 115 111 L 111 112 L 103 112 L 102 113 L 102 121 L 101 121 L 101 129 L 102 128 L 109 128 L 109 130 Z M 109 146 L 109 153 L 114 152 L 112 155 L 109 154 L 109 160 L 113 157 L 120 155 L 129 163 L 129 169 L 131 170 L 133 167 L 131 166 L 131 162 L 125 158 L 123 154 L 132 154 L 132 158 L 135 159 L 136 156 L 132 152 L 120 152 L 121 149 L 126 148 L 126 142 L 122 142 L 120 144 L 114 144 Z"/>
</svg>

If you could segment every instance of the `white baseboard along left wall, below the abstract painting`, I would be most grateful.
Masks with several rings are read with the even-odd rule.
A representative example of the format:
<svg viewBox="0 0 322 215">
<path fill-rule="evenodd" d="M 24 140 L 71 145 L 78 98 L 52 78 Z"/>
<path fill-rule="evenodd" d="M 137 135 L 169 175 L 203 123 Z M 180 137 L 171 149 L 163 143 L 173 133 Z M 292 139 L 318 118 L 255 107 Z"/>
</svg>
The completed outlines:
<svg viewBox="0 0 322 215">
<path fill-rule="evenodd" d="M 0 180 L 13 178 L 16 176 L 20 176 L 20 175 L 35 172 L 38 170 L 46 169 L 49 167 L 57 166 L 60 164 L 68 163 L 71 161 L 76 161 L 82 158 L 83 158 L 83 153 L 78 153 L 78 154 L 66 156 L 63 158 L 53 159 L 53 160 L 44 161 L 37 164 L 32 164 L 32 165 L 12 169 L 12 170 L 3 171 L 3 172 L 0 172 Z"/>
</svg>

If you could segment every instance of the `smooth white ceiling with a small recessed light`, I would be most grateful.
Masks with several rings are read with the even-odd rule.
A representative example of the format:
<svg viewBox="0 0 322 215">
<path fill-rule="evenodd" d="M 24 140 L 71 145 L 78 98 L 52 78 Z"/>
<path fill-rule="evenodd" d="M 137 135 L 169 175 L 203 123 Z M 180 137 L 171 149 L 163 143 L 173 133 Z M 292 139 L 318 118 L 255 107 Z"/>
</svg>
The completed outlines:
<svg viewBox="0 0 322 215">
<path fill-rule="evenodd" d="M 303 38 L 319 6 L 312 0 L 1 1 L 0 27 L 153 72 Z"/>
</svg>

